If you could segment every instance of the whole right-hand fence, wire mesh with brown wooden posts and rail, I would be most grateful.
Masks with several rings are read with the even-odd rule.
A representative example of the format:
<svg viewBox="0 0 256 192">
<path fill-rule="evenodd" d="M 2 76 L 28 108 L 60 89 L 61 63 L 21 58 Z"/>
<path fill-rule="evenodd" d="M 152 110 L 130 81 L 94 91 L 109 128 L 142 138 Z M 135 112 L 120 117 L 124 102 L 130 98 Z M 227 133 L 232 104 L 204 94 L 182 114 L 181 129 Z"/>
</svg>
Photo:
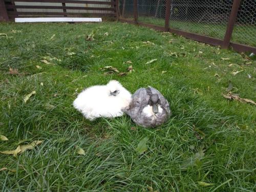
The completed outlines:
<svg viewBox="0 0 256 192">
<path fill-rule="evenodd" d="M 121 22 L 256 53 L 254 0 L 121 0 Z"/>
</svg>

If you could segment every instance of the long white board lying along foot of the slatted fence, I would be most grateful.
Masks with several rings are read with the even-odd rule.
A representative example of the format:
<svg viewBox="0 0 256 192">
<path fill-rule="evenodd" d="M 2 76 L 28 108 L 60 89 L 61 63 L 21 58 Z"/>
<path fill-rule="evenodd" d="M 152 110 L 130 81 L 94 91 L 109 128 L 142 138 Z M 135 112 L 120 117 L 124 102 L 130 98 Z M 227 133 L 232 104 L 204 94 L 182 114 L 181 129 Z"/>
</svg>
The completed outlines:
<svg viewBox="0 0 256 192">
<path fill-rule="evenodd" d="M 16 23 L 26 22 L 102 22 L 101 18 L 90 17 L 26 17 L 15 18 Z"/>
</svg>

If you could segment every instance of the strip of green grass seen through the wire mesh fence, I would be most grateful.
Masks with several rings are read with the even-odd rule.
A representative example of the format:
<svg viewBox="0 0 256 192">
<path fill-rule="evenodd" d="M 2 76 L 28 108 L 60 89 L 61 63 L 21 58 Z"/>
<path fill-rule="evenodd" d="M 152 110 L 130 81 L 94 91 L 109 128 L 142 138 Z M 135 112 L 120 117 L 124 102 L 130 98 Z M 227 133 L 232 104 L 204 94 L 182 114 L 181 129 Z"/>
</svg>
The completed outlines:
<svg viewBox="0 0 256 192">
<path fill-rule="evenodd" d="M 156 17 L 139 17 L 139 22 L 164 26 L 164 19 Z M 224 39 L 227 25 L 207 24 L 198 22 L 182 22 L 179 20 L 170 20 L 170 28 L 179 29 L 191 33 L 198 33 L 201 35 Z M 235 25 L 232 33 L 232 42 L 245 44 L 256 47 L 256 26 Z"/>
</svg>

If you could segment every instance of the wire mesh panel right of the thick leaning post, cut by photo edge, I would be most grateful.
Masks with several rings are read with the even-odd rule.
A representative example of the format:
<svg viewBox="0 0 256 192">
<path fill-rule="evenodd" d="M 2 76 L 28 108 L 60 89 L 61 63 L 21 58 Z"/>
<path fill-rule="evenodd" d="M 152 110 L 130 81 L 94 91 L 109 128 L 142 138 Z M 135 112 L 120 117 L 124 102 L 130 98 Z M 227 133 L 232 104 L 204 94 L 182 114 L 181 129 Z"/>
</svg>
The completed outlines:
<svg viewBox="0 0 256 192">
<path fill-rule="evenodd" d="M 241 2 L 231 41 L 256 47 L 256 1 Z"/>
</svg>

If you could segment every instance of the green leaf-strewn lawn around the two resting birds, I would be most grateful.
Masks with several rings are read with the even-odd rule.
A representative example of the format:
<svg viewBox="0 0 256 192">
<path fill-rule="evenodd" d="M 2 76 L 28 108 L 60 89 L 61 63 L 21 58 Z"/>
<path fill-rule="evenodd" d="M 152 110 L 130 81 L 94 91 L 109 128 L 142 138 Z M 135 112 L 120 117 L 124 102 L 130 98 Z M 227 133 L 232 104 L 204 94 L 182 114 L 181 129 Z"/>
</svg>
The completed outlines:
<svg viewBox="0 0 256 192">
<path fill-rule="evenodd" d="M 94 40 L 86 40 L 92 32 Z M 114 22 L 10 23 L 0 24 L 0 33 L 8 35 L 0 37 L 0 135 L 9 138 L 0 141 L 0 151 L 44 140 L 17 157 L 0 154 L 0 169 L 8 168 L 0 171 L 2 191 L 255 191 L 256 107 L 222 96 L 231 82 L 233 93 L 256 100 L 255 60 Z M 60 61 L 46 64 L 40 61 L 45 56 Z M 127 60 L 135 70 L 127 76 L 99 70 L 123 72 Z M 157 129 L 136 126 L 127 116 L 84 119 L 72 107 L 77 93 L 111 79 L 131 92 L 155 87 L 168 99 L 172 118 Z M 138 155 L 144 137 L 148 150 Z M 86 155 L 78 155 L 76 145 Z"/>
</svg>

